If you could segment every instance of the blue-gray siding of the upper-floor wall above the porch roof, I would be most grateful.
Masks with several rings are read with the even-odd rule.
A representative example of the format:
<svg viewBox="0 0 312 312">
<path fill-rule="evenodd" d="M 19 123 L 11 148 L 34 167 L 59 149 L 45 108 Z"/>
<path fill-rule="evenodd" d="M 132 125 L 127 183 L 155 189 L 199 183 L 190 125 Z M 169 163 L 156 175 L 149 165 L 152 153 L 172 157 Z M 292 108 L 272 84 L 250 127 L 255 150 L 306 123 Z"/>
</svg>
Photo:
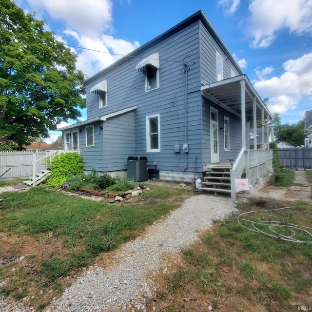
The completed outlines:
<svg viewBox="0 0 312 312">
<path fill-rule="evenodd" d="M 200 23 L 200 39 L 201 82 L 204 85 L 216 81 L 216 51 L 223 59 L 223 79 L 231 78 L 231 69 L 236 76 L 239 75 L 228 55 L 202 23 Z"/>
</svg>

